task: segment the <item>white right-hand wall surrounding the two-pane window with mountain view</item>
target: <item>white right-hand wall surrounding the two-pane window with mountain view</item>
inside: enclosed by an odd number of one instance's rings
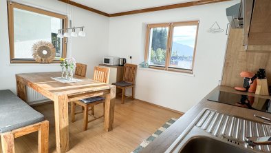
[[[199,20],[194,76],[161,70],[138,70],[135,98],[186,112],[218,85],[226,51],[226,8],[228,1],[204,6],[178,8],[110,18],[109,54],[132,56],[132,63],[144,61],[147,23]],[[225,31],[206,32],[217,21]],[[128,60],[129,61],[129,60]]]

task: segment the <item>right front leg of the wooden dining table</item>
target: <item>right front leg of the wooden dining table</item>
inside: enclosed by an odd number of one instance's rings
[[[113,130],[115,110],[116,87],[111,88],[109,94],[105,94],[105,131]]]

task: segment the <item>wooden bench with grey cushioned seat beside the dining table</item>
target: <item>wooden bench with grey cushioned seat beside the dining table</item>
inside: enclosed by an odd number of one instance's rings
[[[10,90],[0,90],[2,152],[15,152],[14,139],[36,131],[39,131],[39,152],[47,153],[49,122]]]

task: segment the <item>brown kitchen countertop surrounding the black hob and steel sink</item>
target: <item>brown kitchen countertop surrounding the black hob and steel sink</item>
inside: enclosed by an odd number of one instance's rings
[[[257,110],[249,110],[246,108],[240,108],[233,105],[227,105],[224,103],[214,103],[212,101],[208,101],[208,97],[213,94],[213,92],[224,91],[224,92],[232,92],[236,94],[246,94],[248,96],[261,97],[264,99],[271,99],[271,96],[261,96],[250,92],[239,92],[234,90],[232,87],[219,85],[212,92],[210,92],[207,96],[199,101],[197,105],[194,105],[193,108],[188,110],[180,119],[178,119],[173,125],[171,125],[165,132],[163,132],[157,139],[155,139],[152,143],[150,143],[146,148],[142,150],[141,153],[149,153],[149,152],[165,152],[171,144],[177,139],[182,132],[187,128],[187,126],[195,119],[195,117],[204,109],[210,108],[213,110],[217,110],[219,112],[229,114],[232,116],[239,116],[241,118],[249,119],[251,121],[263,122],[263,119],[259,119],[254,117],[254,114],[258,114],[260,116],[265,116],[271,119],[271,114],[266,112],[259,112]]]

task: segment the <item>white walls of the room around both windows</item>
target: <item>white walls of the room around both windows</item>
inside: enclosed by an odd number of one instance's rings
[[[17,0],[23,1],[23,0]],[[65,14],[65,4],[55,0],[24,0],[24,3]],[[147,23],[199,20],[194,76],[160,70],[138,70],[135,98],[186,112],[199,102],[221,79],[227,37],[225,32],[206,32],[217,21],[226,30],[225,9],[237,1],[178,8],[123,17],[107,18],[75,8],[76,25],[85,26],[86,38],[69,39],[68,57],[87,63],[87,76],[105,55],[132,56],[132,63],[144,61]],[[0,90],[15,92],[15,74],[60,71],[57,64],[10,64],[6,1],[0,1]],[[129,59],[127,60],[129,62]],[[129,92],[129,91],[128,91]],[[129,93],[128,93],[129,94]]]

